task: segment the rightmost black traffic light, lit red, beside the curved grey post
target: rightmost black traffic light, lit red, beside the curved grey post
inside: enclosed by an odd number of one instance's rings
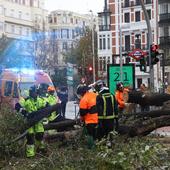
[[[157,64],[157,62],[159,62],[159,58],[158,58],[158,55],[159,55],[159,52],[158,52],[158,45],[151,45],[150,46],[150,53],[151,53],[151,64],[154,65],[154,64]]]

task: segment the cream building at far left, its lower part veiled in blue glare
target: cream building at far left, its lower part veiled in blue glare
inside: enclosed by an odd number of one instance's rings
[[[48,11],[44,9],[44,0],[1,0],[0,18],[1,55],[11,63],[19,54],[23,56],[21,61],[30,56],[35,67],[35,56],[40,54],[39,42],[42,42],[40,33],[42,36],[48,32]],[[12,54],[12,50],[15,54]],[[7,67],[6,63],[4,65]]]

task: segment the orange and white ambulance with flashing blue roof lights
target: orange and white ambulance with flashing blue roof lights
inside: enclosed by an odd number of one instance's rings
[[[20,98],[28,97],[31,86],[42,83],[53,86],[49,75],[42,70],[4,69],[0,74],[0,103],[14,107]]]

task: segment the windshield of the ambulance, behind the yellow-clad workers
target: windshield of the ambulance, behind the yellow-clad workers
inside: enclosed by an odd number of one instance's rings
[[[29,89],[33,86],[34,82],[20,82],[19,90],[22,97],[27,98],[29,96]]]

